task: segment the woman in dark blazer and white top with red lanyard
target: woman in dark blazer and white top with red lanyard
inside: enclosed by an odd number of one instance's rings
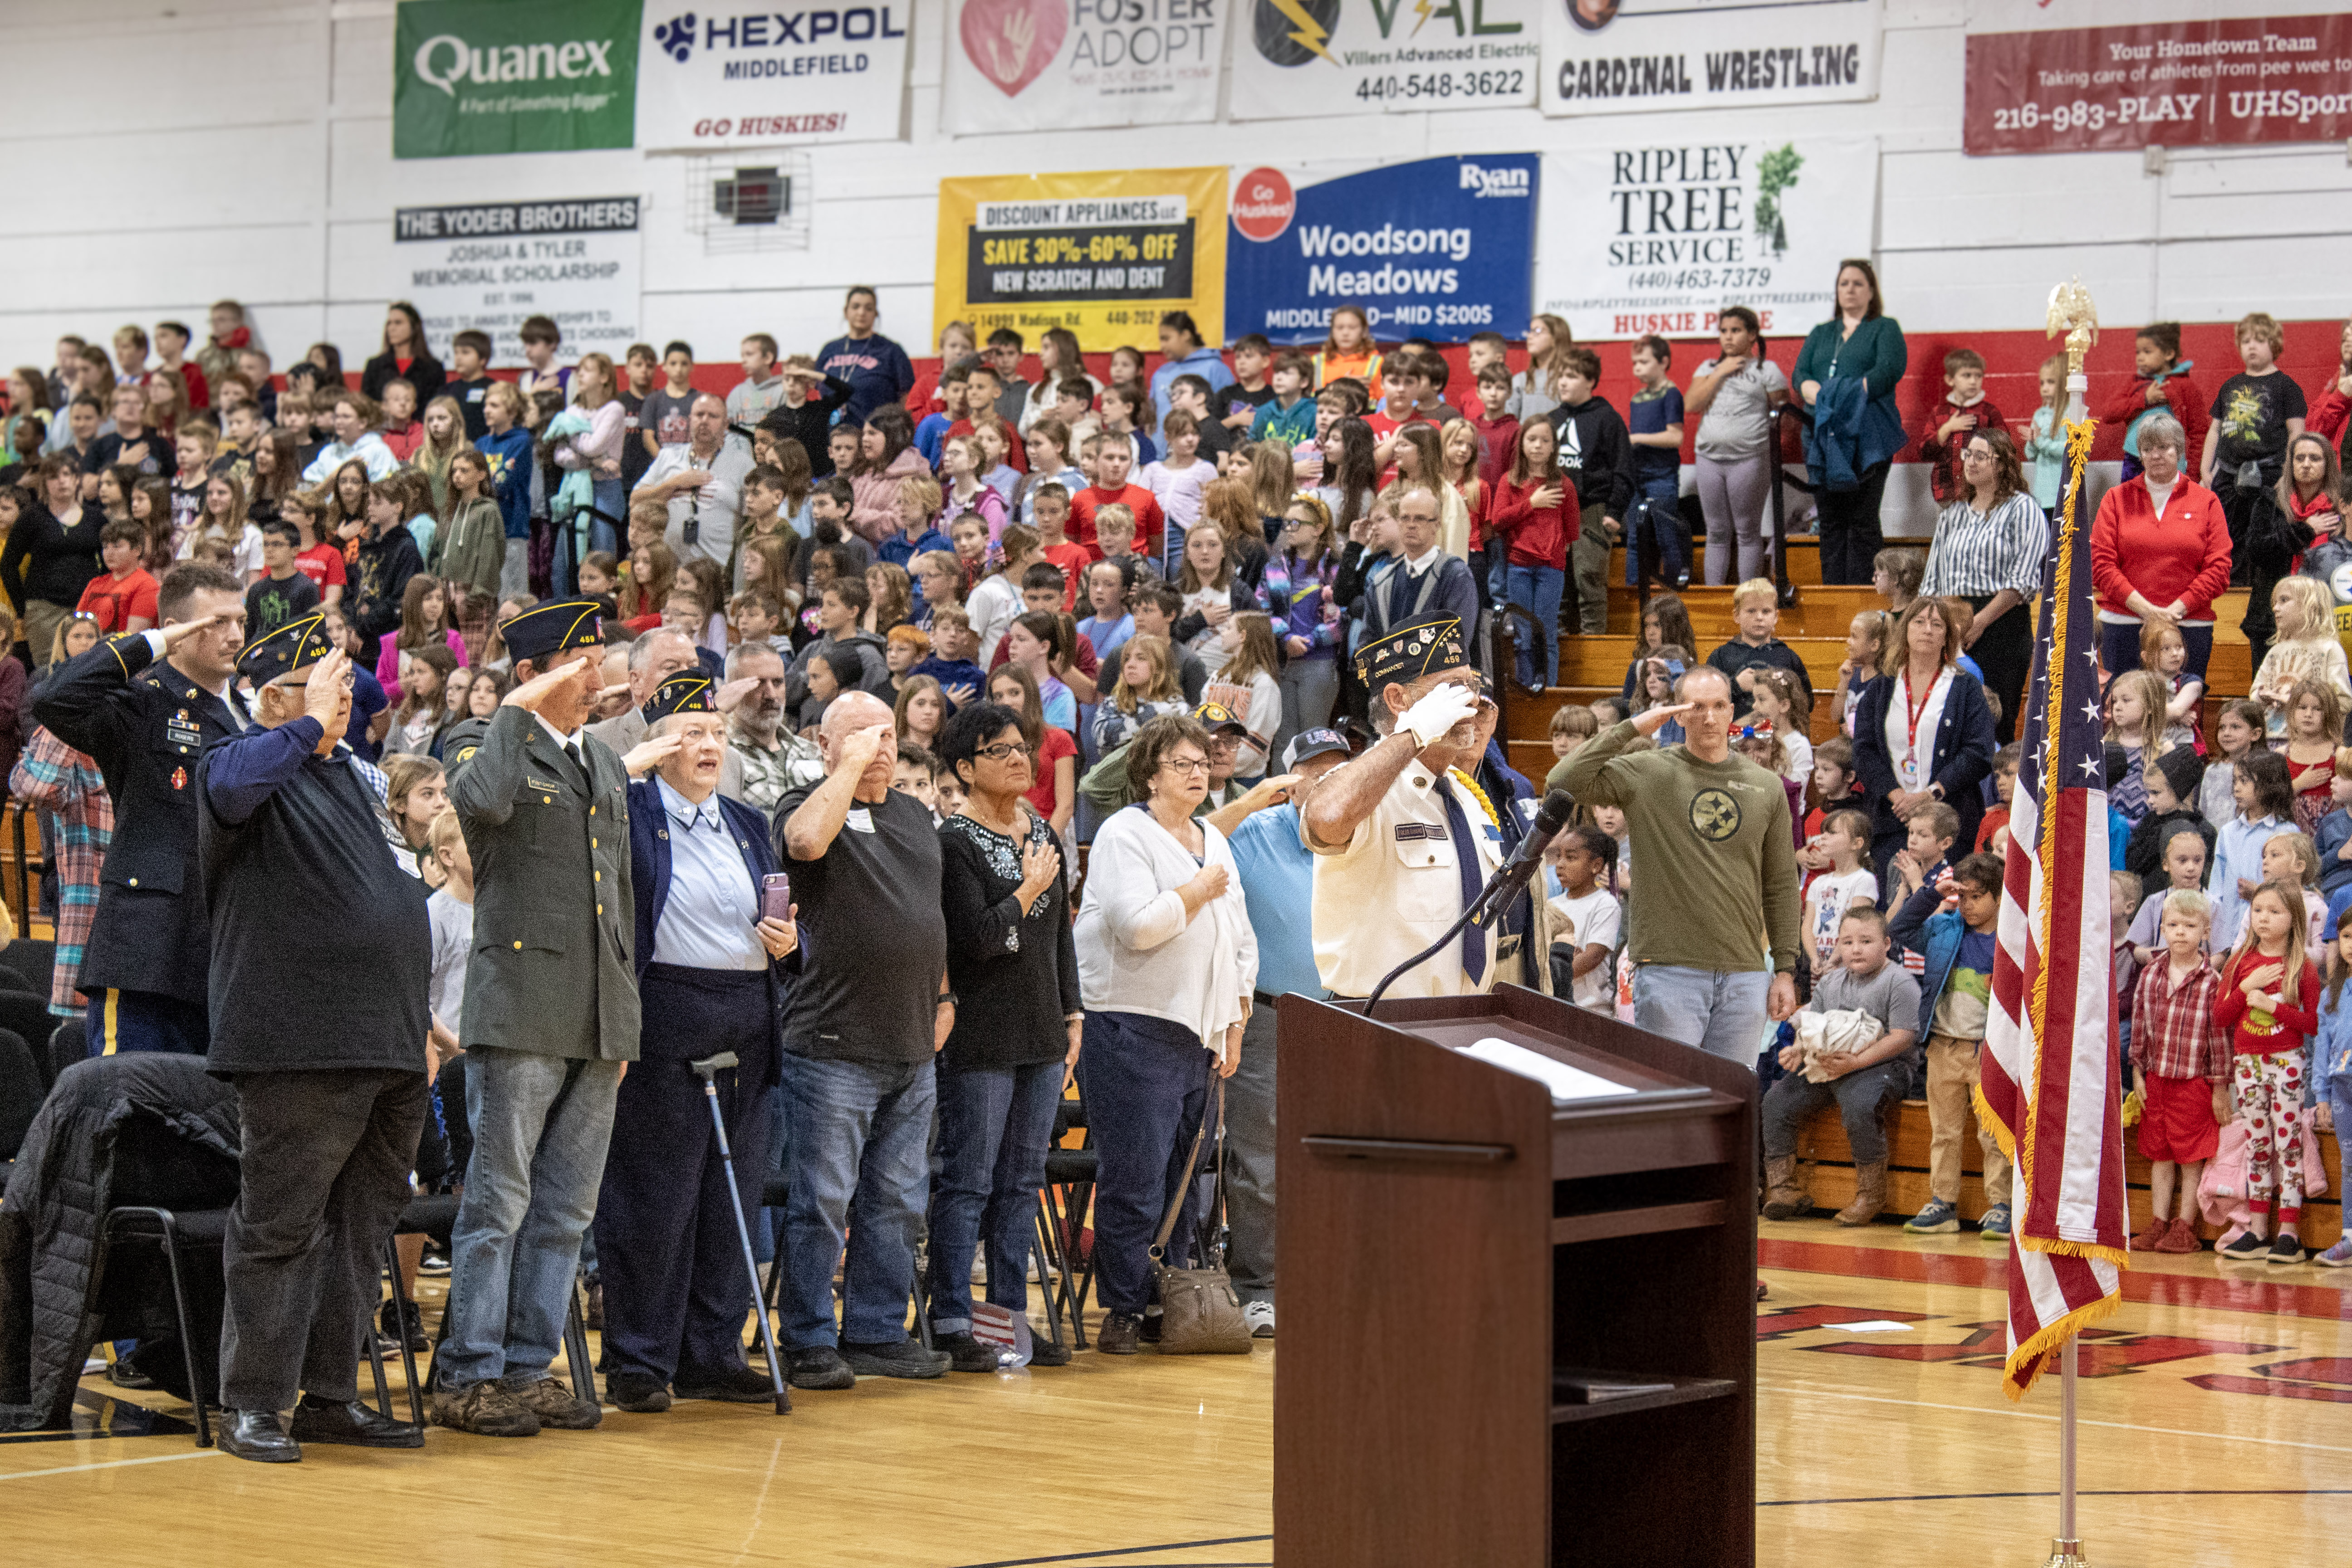
[[[1985,816],[1978,785],[1992,771],[1992,710],[1959,668],[1966,630],[1959,599],[1912,599],[1896,618],[1882,675],[1853,705],[1853,771],[1870,799],[1870,860],[1882,886],[1910,820],[1931,802],[1959,813],[1955,844],[1973,844]]]

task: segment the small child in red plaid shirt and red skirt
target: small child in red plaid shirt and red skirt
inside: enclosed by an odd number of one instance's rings
[[[2190,1218],[2197,1178],[2230,1119],[2230,1034],[2213,1016],[2220,980],[2204,954],[2211,929],[2204,893],[2166,893],[2164,950],[2131,994],[2131,1081],[2140,1091],[2140,1154],[2152,1166],[2152,1218],[2131,1239],[2143,1253],[2204,1251]]]

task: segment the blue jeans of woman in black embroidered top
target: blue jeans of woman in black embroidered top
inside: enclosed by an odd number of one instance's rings
[[[1058,1060],[938,1074],[931,1333],[971,1333],[971,1251],[981,1244],[990,1305],[1028,1312],[1028,1253],[1061,1079]]]

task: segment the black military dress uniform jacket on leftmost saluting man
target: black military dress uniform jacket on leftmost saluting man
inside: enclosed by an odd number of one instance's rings
[[[195,863],[195,764],[242,731],[228,703],[155,656],[146,632],[108,637],[59,668],[33,717],[89,752],[115,797],[82,990],[158,992],[205,1006],[212,922]]]

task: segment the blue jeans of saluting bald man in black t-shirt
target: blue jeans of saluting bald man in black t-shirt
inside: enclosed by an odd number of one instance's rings
[[[936,1100],[931,1060],[783,1058],[783,1119],[793,1145],[781,1262],[788,1349],[906,1338]],[[842,1258],[844,1232],[849,1267],[835,1328],[833,1265]]]

